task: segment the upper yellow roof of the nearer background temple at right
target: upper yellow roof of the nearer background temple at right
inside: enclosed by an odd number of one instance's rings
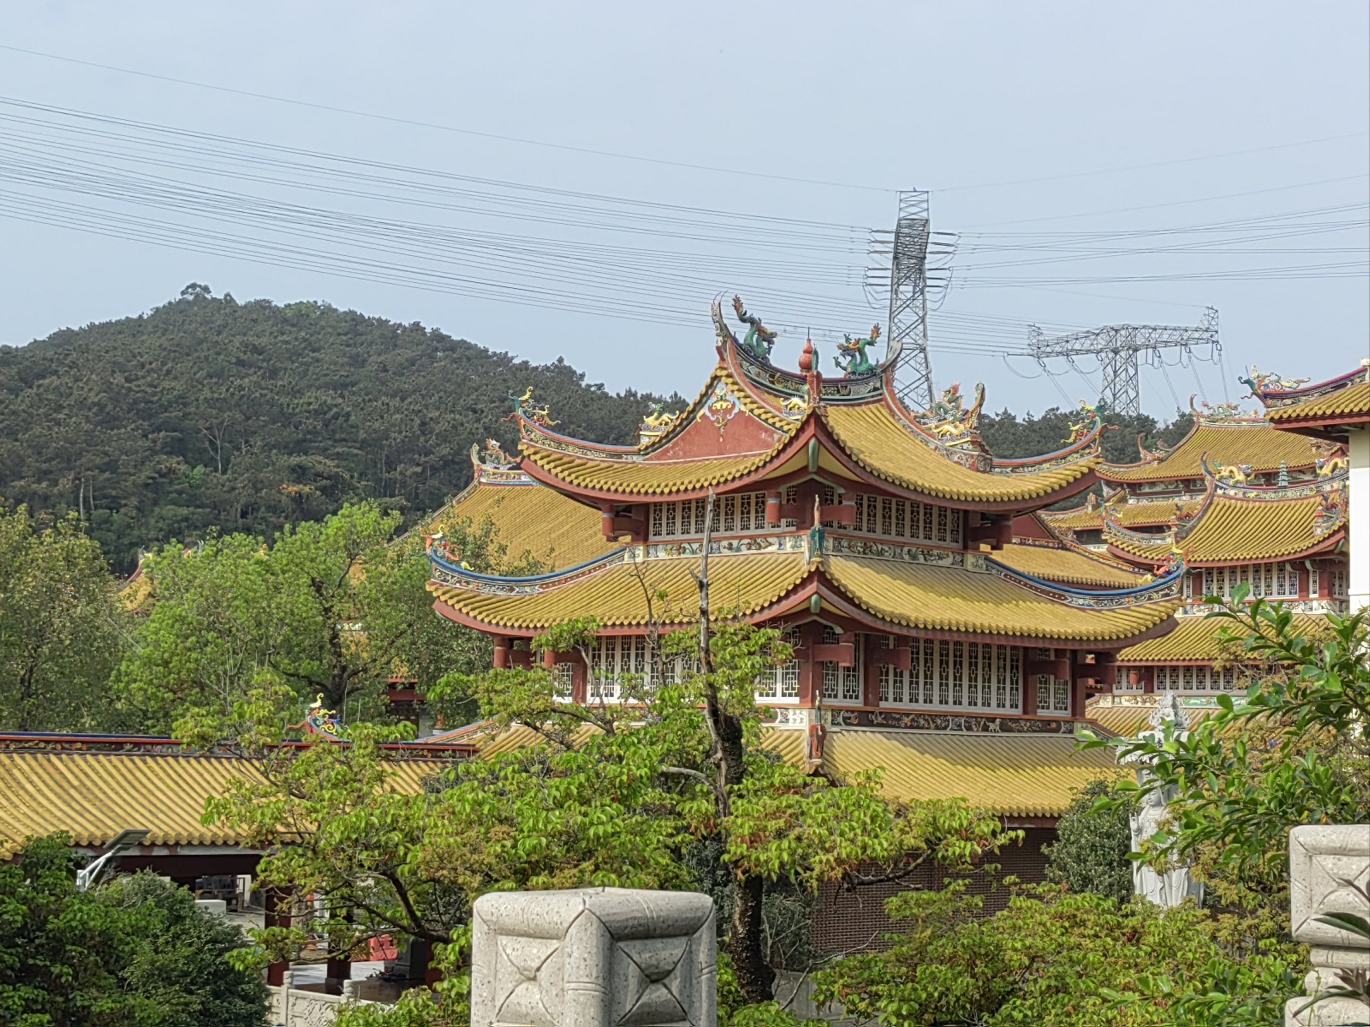
[[[1248,500],[1215,496],[1178,546],[1191,563],[1278,560],[1308,552],[1330,533],[1315,534],[1322,500]],[[1170,553],[1169,535],[1143,542],[1106,529],[1111,546],[1143,559],[1163,560]]]

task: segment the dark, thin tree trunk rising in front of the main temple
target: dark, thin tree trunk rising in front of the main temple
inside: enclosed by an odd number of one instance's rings
[[[699,667],[704,679],[704,720],[712,738],[711,759],[718,768],[718,819],[732,812],[730,789],[743,783],[747,764],[743,750],[743,722],[723,709],[718,683],[712,679],[714,657],[708,627],[708,548],[714,531],[714,494],[704,511],[704,545],[699,559]],[[767,965],[762,946],[762,898],[764,880],[733,871],[733,922],[727,931],[727,952],[733,957],[737,985],[748,1002],[775,997],[775,971]]]

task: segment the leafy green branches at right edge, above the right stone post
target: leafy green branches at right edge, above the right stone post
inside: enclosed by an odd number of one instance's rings
[[[1219,696],[1222,709],[1185,738],[1167,727],[1162,739],[1114,742],[1149,765],[1143,794],[1175,796],[1171,830],[1151,839],[1149,857],[1197,860],[1233,904],[1285,890],[1292,826],[1370,819],[1365,616],[1329,616],[1330,635],[1308,639],[1282,605],[1244,598],[1211,616],[1226,641],[1284,670],[1254,683],[1241,705]]]

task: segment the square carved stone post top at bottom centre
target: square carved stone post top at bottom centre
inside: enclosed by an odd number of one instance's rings
[[[708,896],[506,891],[471,912],[471,1027],[715,1027]]]

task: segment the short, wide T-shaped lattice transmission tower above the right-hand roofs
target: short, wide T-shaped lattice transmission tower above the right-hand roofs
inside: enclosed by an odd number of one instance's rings
[[[1222,352],[1218,341],[1218,309],[1208,307],[1203,322],[1195,327],[1175,325],[1106,325],[1091,331],[1047,338],[1036,325],[1028,326],[1029,356],[1043,371],[1051,374],[1047,362],[1063,357],[1075,367],[1077,356],[1099,357],[1103,372],[1101,398],[1112,414],[1141,414],[1141,382],[1138,366],[1162,366],[1162,349],[1184,349],[1193,360],[1195,346],[1207,346],[1208,355],[1197,357],[1215,360]],[[1075,368],[1080,370],[1080,368]]]

